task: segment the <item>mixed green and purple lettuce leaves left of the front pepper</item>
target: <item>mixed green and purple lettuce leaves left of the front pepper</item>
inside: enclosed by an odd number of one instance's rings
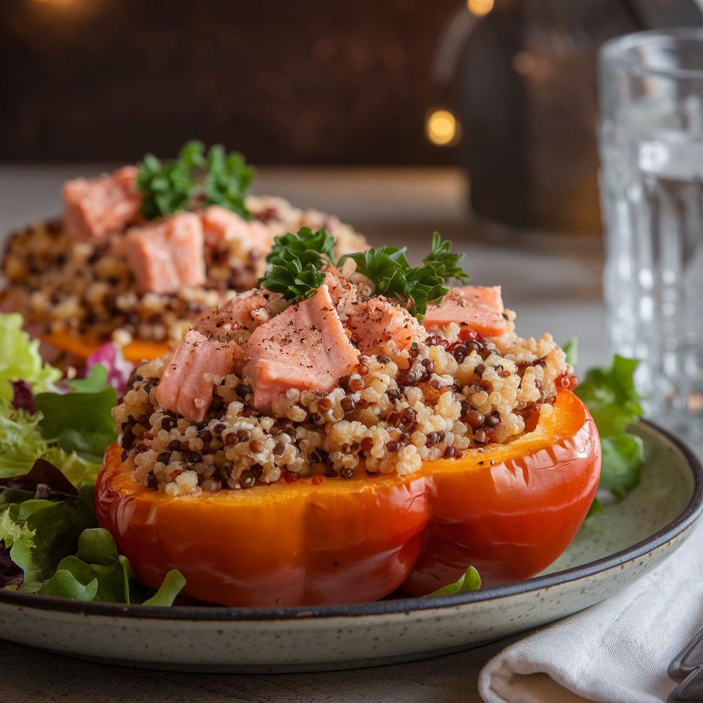
[[[108,369],[62,382],[18,314],[0,315],[0,340],[0,588],[171,605],[183,576],[169,572],[153,593],[96,520],[93,489],[117,439]]]

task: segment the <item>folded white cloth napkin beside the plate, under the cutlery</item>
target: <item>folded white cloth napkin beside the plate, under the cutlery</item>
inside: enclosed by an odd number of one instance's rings
[[[669,662],[703,627],[703,522],[671,557],[612,598],[503,650],[486,703],[660,703]]]

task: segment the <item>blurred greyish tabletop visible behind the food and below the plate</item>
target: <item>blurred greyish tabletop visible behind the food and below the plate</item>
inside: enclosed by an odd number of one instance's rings
[[[60,183],[101,165],[0,165],[0,232],[60,212]],[[298,207],[337,214],[370,244],[407,245],[419,262],[435,229],[466,252],[476,285],[502,285],[517,312],[517,332],[549,332],[559,343],[579,337],[577,371],[609,357],[598,236],[512,233],[470,221],[467,179],[458,169],[259,169],[255,192],[282,195]],[[0,633],[1,636],[1,633]],[[255,676],[121,669],[0,640],[3,697],[13,703],[70,700],[219,702],[479,701],[484,664],[517,639],[424,662],[329,673]]]

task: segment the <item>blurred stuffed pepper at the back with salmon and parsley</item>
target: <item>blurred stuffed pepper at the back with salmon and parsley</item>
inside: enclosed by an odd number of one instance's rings
[[[216,145],[146,155],[63,185],[63,215],[11,236],[0,310],[19,312],[46,361],[82,366],[112,340],[138,363],[169,351],[184,323],[256,285],[273,237],[325,226],[335,253],[363,249],[352,228],[282,198],[247,195],[255,172]]]

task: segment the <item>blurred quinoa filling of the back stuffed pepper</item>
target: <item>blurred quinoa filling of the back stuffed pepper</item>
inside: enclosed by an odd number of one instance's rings
[[[366,245],[363,236],[336,217],[303,212],[283,198],[250,195],[245,204],[271,237],[302,226],[325,226],[337,240],[337,255]],[[206,243],[205,285],[168,295],[138,295],[120,234],[101,242],[79,241],[60,219],[39,222],[8,240],[1,267],[7,285],[0,307],[20,312],[34,335],[112,337],[118,345],[135,339],[177,342],[184,323],[256,285],[266,271],[266,254],[252,243]]]

